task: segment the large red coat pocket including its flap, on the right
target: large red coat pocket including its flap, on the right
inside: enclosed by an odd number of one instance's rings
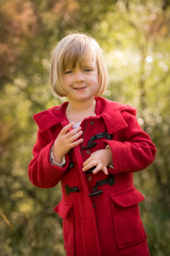
[[[112,217],[119,248],[138,244],[147,238],[138,206],[144,199],[135,187],[111,195]]]

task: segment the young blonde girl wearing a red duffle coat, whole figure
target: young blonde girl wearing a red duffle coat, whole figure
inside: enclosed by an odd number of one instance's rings
[[[29,178],[39,188],[61,180],[55,207],[69,256],[148,256],[133,172],[156,148],[135,108],[99,97],[108,84],[103,52],[83,34],[63,38],[50,70],[53,90],[68,102],[33,116],[39,126]]]

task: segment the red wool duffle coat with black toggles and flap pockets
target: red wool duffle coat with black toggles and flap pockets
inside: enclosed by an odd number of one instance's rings
[[[66,164],[61,168],[50,164],[49,154],[57,134],[68,124],[67,104],[33,116],[39,130],[29,164],[33,185],[52,188],[61,180],[62,200],[54,210],[63,218],[67,255],[148,256],[147,236],[138,206],[144,197],[133,186],[133,172],[145,169],[154,161],[156,148],[138,124],[135,108],[97,97],[96,116],[84,118],[81,123],[83,145],[66,154]],[[112,135],[111,140],[100,138],[94,147],[83,149],[93,135],[106,131]],[[108,172],[115,183],[99,186],[97,190],[103,194],[89,196],[94,193],[96,182],[108,175],[103,171],[84,173],[82,165],[91,153],[106,145],[112,149],[114,169],[108,167]],[[68,193],[71,187],[77,187],[78,191]]]

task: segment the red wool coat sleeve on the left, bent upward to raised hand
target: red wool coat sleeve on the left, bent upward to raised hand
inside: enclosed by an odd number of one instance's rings
[[[37,142],[33,147],[33,159],[28,166],[30,181],[39,188],[52,188],[63,177],[69,166],[69,154],[65,155],[66,164],[63,167],[50,164],[49,155],[54,141],[50,141],[47,132],[38,130]]]

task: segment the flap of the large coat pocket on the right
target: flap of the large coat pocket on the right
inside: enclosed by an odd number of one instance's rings
[[[144,196],[135,187],[111,195],[111,200],[121,207],[138,204],[144,199]]]

